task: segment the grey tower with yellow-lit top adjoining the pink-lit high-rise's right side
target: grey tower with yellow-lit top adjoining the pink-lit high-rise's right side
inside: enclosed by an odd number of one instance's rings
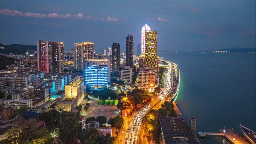
[[[64,45],[63,42],[53,43],[53,71],[57,73],[63,72],[64,62]]]

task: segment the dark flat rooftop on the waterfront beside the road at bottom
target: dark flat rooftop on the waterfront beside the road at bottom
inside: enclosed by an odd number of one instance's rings
[[[183,118],[159,117],[165,144],[200,144]]]

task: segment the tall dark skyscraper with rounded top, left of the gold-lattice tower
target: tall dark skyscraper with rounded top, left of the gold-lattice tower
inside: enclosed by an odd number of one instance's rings
[[[133,66],[133,37],[128,35],[126,37],[125,45],[125,55],[126,55],[126,66]]]

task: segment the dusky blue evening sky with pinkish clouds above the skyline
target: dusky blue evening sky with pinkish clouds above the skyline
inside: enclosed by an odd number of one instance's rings
[[[94,42],[101,50],[141,27],[158,31],[158,50],[255,48],[255,0],[1,0],[1,43]]]

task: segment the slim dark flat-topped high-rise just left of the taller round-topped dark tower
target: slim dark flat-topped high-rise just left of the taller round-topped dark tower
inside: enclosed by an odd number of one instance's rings
[[[118,72],[120,67],[120,45],[113,43],[112,45],[112,72]]]

